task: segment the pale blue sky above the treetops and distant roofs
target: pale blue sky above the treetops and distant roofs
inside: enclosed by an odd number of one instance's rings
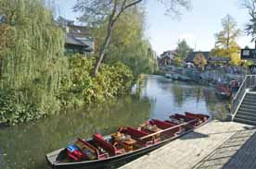
[[[165,16],[165,8],[156,0],[147,3],[146,35],[157,54],[173,50],[179,39],[186,39],[192,48],[198,51],[209,51],[214,46],[214,34],[222,30],[221,19],[230,14],[237,20],[239,29],[249,20],[247,11],[241,9],[242,0],[192,0],[192,9],[184,11],[180,19]],[[75,19],[72,12],[76,0],[58,0],[60,14],[64,18]],[[245,33],[238,39],[241,47],[249,45],[250,37]]]

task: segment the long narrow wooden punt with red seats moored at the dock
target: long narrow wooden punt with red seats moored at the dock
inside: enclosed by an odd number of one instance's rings
[[[77,139],[67,148],[45,155],[53,169],[110,168],[128,163],[177,139],[210,120],[208,115],[186,113],[170,120],[148,120],[139,127],[120,127],[119,131],[92,139]],[[76,152],[76,153],[74,153]]]

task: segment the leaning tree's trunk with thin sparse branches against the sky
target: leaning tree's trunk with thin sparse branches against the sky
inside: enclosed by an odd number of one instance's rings
[[[87,24],[102,24],[108,19],[108,30],[106,38],[99,51],[99,59],[96,63],[95,75],[109,47],[112,31],[117,20],[128,8],[136,6],[146,0],[77,0],[74,11],[80,12],[83,15],[80,21]],[[163,5],[167,6],[168,13],[178,14],[181,7],[188,9],[190,0],[158,0]]]

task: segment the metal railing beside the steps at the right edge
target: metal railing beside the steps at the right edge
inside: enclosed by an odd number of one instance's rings
[[[232,101],[232,106],[231,106],[232,120],[237,115],[237,111],[241,103],[243,102],[247,92],[254,89],[255,87],[256,87],[256,75],[247,75],[242,85],[240,86],[239,90],[237,91],[235,98]]]

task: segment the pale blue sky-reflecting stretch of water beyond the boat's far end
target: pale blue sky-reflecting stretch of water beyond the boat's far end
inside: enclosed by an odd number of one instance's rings
[[[141,97],[149,99],[150,115],[156,118],[190,111],[224,119],[229,103],[218,100],[212,88],[158,76],[146,77]]]

